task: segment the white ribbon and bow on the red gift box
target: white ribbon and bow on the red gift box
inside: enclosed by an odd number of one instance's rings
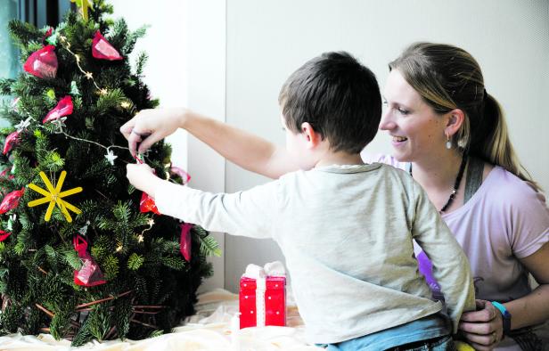
[[[284,269],[284,265],[280,261],[267,263],[263,267],[248,265],[243,276],[256,280],[256,321],[258,327],[264,327],[266,277],[285,277],[286,270]]]

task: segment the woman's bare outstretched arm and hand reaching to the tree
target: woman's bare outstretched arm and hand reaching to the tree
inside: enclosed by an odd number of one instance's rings
[[[144,152],[182,127],[234,164],[260,175],[278,178],[299,169],[282,147],[257,135],[231,127],[185,109],[142,110],[120,132],[127,138],[132,155]],[[139,150],[136,145],[139,144]]]

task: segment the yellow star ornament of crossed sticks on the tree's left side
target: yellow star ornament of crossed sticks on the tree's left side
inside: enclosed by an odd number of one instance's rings
[[[63,214],[63,216],[65,216],[65,219],[67,219],[67,222],[69,223],[72,222],[72,217],[70,217],[68,209],[70,209],[72,212],[76,213],[77,215],[82,213],[82,211],[80,211],[75,206],[71,205],[69,202],[62,200],[62,198],[65,198],[70,195],[74,195],[77,192],[82,192],[81,186],[61,192],[61,186],[63,186],[63,182],[65,181],[66,175],[67,175],[67,172],[62,171],[61,175],[59,176],[59,181],[57,182],[55,187],[53,187],[52,182],[50,182],[50,180],[47,178],[45,173],[40,172],[40,177],[44,181],[47,191],[45,191],[44,189],[40,188],[35,184],[32,184],[32,183],[29,184],[30,189],[44,195],[44,198],[42,199],[30,201],[27,204],[29,208],[33,208],[35,206],[45,204],[46,202],[50,203],[47,207],[47,210],[45,211],[44,220],[46,222],[49,222],[50,218],[52,217],[53,208],[55,207],[56,204],[61,209],[61,213]]]

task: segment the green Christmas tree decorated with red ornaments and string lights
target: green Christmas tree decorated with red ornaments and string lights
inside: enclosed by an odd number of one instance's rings
[[[219,254],[208,232],[161,216],[127,182],[135,159],[119,127],[158,104],[142,81],[146,54],[128,61],[144,28],[105,18],[103,0],[78,4],[55,29],[10,22],[24,70],[0,80],[13,97],[2,110],[13,127],[0,131],[0,333],[74,346],[170,331],[193,314],[206,257]],[[170,152],[157,143],[137,161],[183,184]]]

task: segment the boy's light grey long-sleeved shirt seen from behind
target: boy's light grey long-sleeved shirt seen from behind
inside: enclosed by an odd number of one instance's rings
[[[418,272],[413,239],[436,267],[454,331],[474,310],[467,258],[422,188],[379,163],[292,172],[245,192],[163,183],[161,213],[281,247],[311,343],[336,343],[441,309]]]

